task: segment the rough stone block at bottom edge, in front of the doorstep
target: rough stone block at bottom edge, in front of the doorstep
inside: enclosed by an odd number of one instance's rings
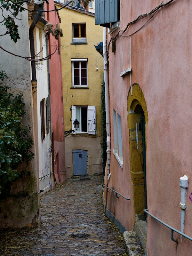
[[[128,256],[144,256],[144,251],[135,231],[123,233],[125,250]]]

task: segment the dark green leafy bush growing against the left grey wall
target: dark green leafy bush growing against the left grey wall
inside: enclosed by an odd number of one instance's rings
[[[0,81],[7,78],[0,71]],[[30,161],[34,154],[30,151],[33,141],[30,126],[23,128],[23,95],[14,96],[10,87],[0,82],[0,195],[10,190],[11,183],[21,174],[17,167],[23,161]],[[6,191],[6,192],[5,192]]]

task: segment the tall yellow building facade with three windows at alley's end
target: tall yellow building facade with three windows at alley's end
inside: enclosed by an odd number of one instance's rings
[[[56,3],[61,8],[62,3]],[[103,58],[94,45],[103,41],[102,27],[95,26],[95,14],[67,6],[59,11],[65,131],[79,129],[65,137],[67,177],[102,173],[101,84]]]

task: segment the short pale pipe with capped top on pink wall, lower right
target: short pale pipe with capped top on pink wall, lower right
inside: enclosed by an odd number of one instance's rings
[[[181,232],[184,231],[184,225],[185,225],[185,209],[186,209],[186,196],[187,196],[187,187],[188,187],[188,177],[184,175],[179,179],[179,185],[181,187]],[[183,236],[181,235],[181,242],[182,242]]]

